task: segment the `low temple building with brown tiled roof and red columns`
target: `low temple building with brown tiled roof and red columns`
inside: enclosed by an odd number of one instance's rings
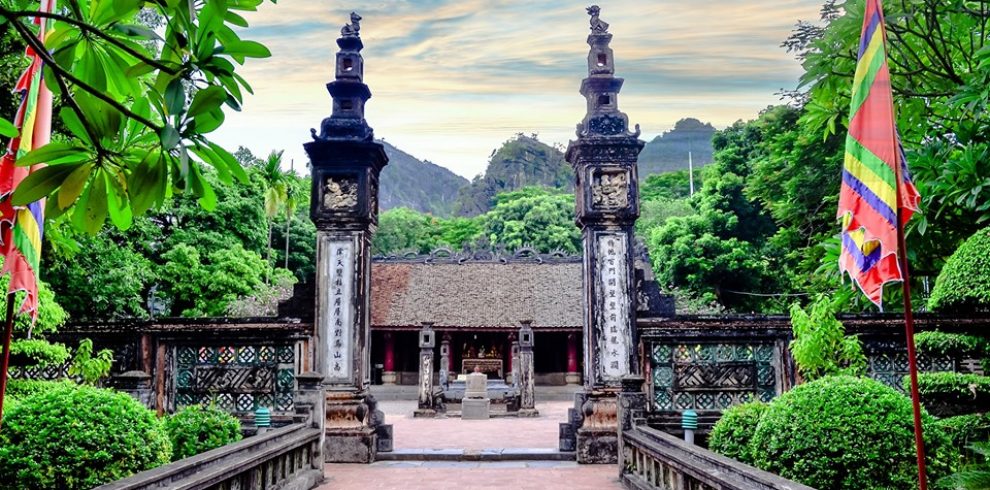
[[[436,358],[450,346],[452,376],[475,368],[491,378],[512,371],[512,344],[520,322],[534,331],[536,383],[581,383],[581,255],[453,253],[375,257],[371,266],[371,364],[374,381],[414,385],[418,379],[417,334],[423,323],[436,332]],[[659,294],[646,266],[637,261],[640,296],[655,314],[672,305]],[[641,314],[650,314],[649,310]]]

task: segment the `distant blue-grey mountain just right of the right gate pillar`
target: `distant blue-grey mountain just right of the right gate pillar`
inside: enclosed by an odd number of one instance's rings
[[[674,128],[646,144],[639,154],[639,177],[686,170],[688,152],[694,168],[712,163],[712,135],[715,127],[692,117],[677,121]]]

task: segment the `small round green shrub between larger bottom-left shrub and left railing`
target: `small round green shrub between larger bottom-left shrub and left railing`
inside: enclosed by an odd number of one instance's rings
[[[214,406],[191,405],[165,420],[172,461],[195,456],[241,439],[237,417]]]

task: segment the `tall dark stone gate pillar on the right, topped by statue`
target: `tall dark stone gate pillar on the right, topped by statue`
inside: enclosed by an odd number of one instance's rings
[[[599,11],[588,9],[591,50],[581,83],[588,112],[565,154],[576,176],[584,245],[584,389],[576,395],[582,416],[574,431],[579,463],[617,461],[617,396],[622,379],[638,369],[633,225],[639,216],[636,159],[645,143],[619,111],[623,80],[615,77],[612,35]]]

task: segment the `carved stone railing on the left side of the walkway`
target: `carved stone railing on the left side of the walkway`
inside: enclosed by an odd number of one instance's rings
[[[280,427],[97,487],[99,490],[310,490],[323,480],[322,431]]]

